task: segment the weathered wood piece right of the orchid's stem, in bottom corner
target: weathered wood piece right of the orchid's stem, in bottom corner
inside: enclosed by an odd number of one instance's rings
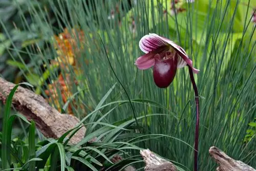
[[[210,147],[209,154],[218,164],[220,164],[220,166],[216,169],[218,171],[256,171],[254,168],[243,163],[242,161],[230,158],[215,146]]]

